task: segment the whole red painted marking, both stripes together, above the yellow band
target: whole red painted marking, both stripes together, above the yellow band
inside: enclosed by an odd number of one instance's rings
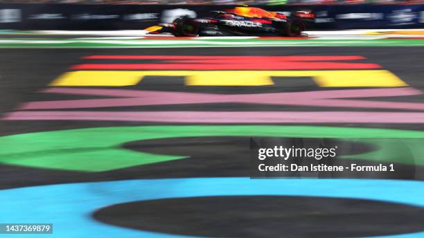
[[[197,56],[197,55],[91,55],[86,60],[162,60],[154,64],[79,64],[72,69],[167,69],[167,70],[279,70],[381,68],[378,64],[319,62],[362,60],[359,55],[301,56]]]

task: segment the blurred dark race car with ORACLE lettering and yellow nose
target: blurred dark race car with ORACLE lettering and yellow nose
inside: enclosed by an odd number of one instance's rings
[[[315,20],[309,10],[269,12],[261,8],[236,7],[211,11],[209,17],[182,16],[173,23],[152,26],[150,33],[171,33],[177,37],[196,36],[286,36],[299,37]]]

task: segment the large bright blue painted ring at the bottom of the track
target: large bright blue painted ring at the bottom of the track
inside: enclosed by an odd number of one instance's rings
[[[116,203],[235,195],[370,199],[424,207],[424,183],[421,181],[166,178],[0,190],[0,223],[53,223],[53,235],[48,237],[184,237],[109,226],[92,219],[91,213]],[[13,235],[13,237],[32,237],[32,235]],[[387,237],[424,237],[424,232]]]

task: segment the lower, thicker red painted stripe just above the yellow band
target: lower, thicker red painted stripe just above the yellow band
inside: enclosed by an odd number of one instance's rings
[[[166,69],[166,70],[281,70],[381,68],[378,64],[332,62],[249,62],[246,64],[78,64],[71,69]]]

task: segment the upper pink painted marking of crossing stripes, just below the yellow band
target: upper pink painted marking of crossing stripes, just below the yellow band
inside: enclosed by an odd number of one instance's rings
[[[83,100],[54,100],[27,102],[21,110],[34,109],[77,109],[95,107],[129,107],[166,104],[201,104],[201,103],[243,103],[273,104],[309,107],[344,107],[344,108],[380,108],[400,110],[424,110],[422,102],[387,102],[376,100],[346,100],[339,98],[387,97],[401,95],[419,95],[421,91],[410,88],[398,89],[353,89],[330,90],[295,93],[254,93],[254,94],[211,94],[185,93],[168,91],[134,91],[123,89],[46,89],[46,93],[69,93],[82,95],[125,96],[124,98],[103,98]],[[173,100],[169,100],[173,98]]]

